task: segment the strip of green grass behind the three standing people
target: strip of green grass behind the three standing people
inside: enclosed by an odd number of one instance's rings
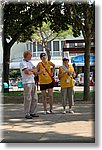
[[[90,92],[91,95],[91,103],[95,103],[95,92]],[[54,97],[54,103],[61,103],[62,97],[60,91],[54,91],[53,92],[53,97]],[[48,94],[47,94],[47,100],[48,100]],[[3,103],[22,103],[23,104],[24,98],[23,98],[23,91],[14,91],[14,92],[9,92],[9,93],[4,93],[3,96]],[[85,103],[86,101],[83,100],[83,92],[78,91],[75,92],[74,94],[74,101],[77,103]],[[38,92],[38,102],[42,102],[42,94],[41,92]]]

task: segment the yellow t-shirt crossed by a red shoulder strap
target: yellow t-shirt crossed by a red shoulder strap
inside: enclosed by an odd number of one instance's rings
[[[44,66],[42,65],[42,63],[44,64],[45,68],[48,70],[48,72],[51,74],[51,66],[52,66],[52,62],[50,61],[46,61],[44,62],[40,62],[39,63],[39,71],[41,71],[42,69],[44,69]],[[51,77],[49,76],[49,74],[47,73],[47,71],[45,70],[44,74],[39,74],[39,83],[40,84],[49,84],[52,82]]]

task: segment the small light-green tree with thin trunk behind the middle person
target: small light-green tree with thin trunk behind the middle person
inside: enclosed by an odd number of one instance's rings
[[[41,45],[45,48],[46,53],[48,55],[48,60],[51,59],[50,49],[48,47],[48,42],[53,41],[54,39],[67,38],[68,34],[72,34],[71,27],[66,31],[55,32],[50,29],[50,22],[43,22],[42,27],[34,27],[34,34],[31,36],[32,41],[37,42],[37,44]]]

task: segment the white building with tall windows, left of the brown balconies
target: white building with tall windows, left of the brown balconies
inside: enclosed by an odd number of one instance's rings
[[[74,37],[69,37],[69,39],[75,39]],[[78,39],[82,39],[79,37]],[[67,39],[55,39],[48,42],[48,48],[50,49],[51,61],[56,64],[56,67],[62,65],[62,56],[63,56],[63,47],[65,46],[65,41]],[[76,46],[76,43],[70,43],[66,45],[67,47]],[[23,52],[30,50],[32,52],[32,62],[36,66],[40,61],[40,53],[45,52],[45,48],[39,45],[37,42],[26,42],[26,43],[15,43],[11,48],[11,57],[10,57],[10,69],[18,69],[19,63],[23,58]],[[77,53],[70,54],[69,52],[64,53],[64,56],[70,58],[77,56]]]

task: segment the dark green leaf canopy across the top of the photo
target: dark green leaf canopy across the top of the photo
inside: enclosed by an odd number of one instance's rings
[[[33,27],[42,27],[50,22],[53,32],[66,31],[69,25],[73,28],[73,35],[79,36],[85,29],[86,9],[91,32],[95,26],[95,7],[88,3],[68,2],[32,2],[32,3],[7,3],[3,8],[4,36],[6,39],[29,40],[34,33]],[[47,28],[45,26],[45,28]]]

